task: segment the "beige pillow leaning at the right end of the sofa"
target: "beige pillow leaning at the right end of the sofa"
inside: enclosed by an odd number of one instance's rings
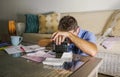
[[[120,10],[116,10],[108,19],[103,34],[107,33],[109,28],[112,30],[107,34],[109,36],[120,36]]]

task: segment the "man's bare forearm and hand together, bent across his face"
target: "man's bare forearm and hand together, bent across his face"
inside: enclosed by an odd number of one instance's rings
[[[96,55],[97,46],[94,43],[81,39],[71,32],[56,32],[52,36],[53,41],[55,41],[56,44],[61,44],[66,37],[69,38],[71,42],[73,42],[84,53],[90,56]]]

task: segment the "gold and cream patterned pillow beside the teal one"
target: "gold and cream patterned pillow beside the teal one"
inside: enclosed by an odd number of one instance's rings
[[[39,33],[51,34],[57,31],[60,13],[48,13],[39,15]]]

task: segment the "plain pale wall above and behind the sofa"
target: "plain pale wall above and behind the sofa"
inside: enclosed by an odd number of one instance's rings
[[[119,9],[119,4],[119,0],[0,0],[0,35],[8,33],[8,20],[17,19],[19,14],[38,14],[48,11],[61,13],[77,12],[76,14],[78,14],[79,12]],[[77,17],[77,19],[79,18]],[[89,20],[88,18],[84,18],[84,16],[83,19],[85,21],[86,19],[87,21]],[[83,23],[85,24],[85,22]]]

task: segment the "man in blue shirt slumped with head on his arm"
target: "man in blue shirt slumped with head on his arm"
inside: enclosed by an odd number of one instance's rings
[[[72,16],[61,18],[58,31],[52,35],[52,40],[57,45],[64,42],[65,38],[70,41],[69,51],[80,55],[96,55],[95,35],[89,31],[82,30]]]

